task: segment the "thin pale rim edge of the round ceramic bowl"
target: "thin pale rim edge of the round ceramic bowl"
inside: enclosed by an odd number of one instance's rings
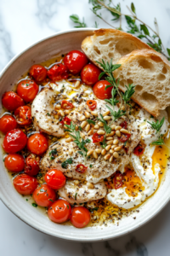
[[[20,51],[19,54],[17,55],[14,55],[14,57],[8,61],[8,64],[3,67],[3,70],[1,71],[0,73],[0,79],[2,79],[3,77],[3,74],[7,71],[8,67],[10,67],[14,61],[16,61],[21,55],[25,54],[27,50],[31,49],[32,47],[36,46],[37,44],[40,44],[50,38],[55,38],[56,36],[59,36],[59,35],[62,35],[62,34],[66,34],[66,33],[71,33],[71,32],[83,32],[83,31],[86,31],[86,32],[92,32],[96,30],[96,28],[94,27],[89,27],[89,28],[75,28],[75,29],[69,29],[69,30],[65,30],[65,31],[60,31],[60,32],[56,32],[48,37],[45,37],[45,38],[42,38],[40,40],[37,40],[36,43],[34,44],[31,44],[30,46],[26,47],[25,49],[23,49],[22,51]],[[21,214],[19,212],[17,212],[17,210],[15,210],[12,206],[8,205],[8,202],[5,200],[5,197],[3,196],[3,194],[1,193],[0,191],[0,200],[3,201],[3,204],[8,207],[8,209],[14,213],[14,215],[18,218],[20,218],[20,220],[22,220],[24,223],[28,224],[31,228],[34,228],[35,230],[37,231],[41,231],[43,234],[46,234],[48,236],[53,236],[53,237],[56,237],[56,238],[59,238],[59,239],[65,239],[65,240],[68,240],[68,241],[81,241],[81,242],[87,242],[87,241],[105,241],[105,240],[111,240],[111,239],[115,239],[117,237],[120,237],[120,236],[124,236],[124,235],[127,235],[128,233],[134,231],[134,230],[138,230],[141,226],[143,226],[144,224],[147,224],[152,218],[156,217],[156,215],[161,212],[161,210],[163,210],[164,207],[166,207],[168,201],[170,201],[170,198],[167,197],[167,199],[165,201],[162,201],[161,204],[159,205],[159,207],[156,209],[155,212],[153,212],[152,214],[150,214],[150,216],[148,218],[145,218],[143,221],[141,221],[140,224],[135,224],[133,225],[132,228],[128,229],[128,230],[124,230],[123,232],[117,232],[116,235],[108,235],[108,236],[105,236],[105,237],[102,237],[102,238],[91,238],[91,239],[88,239],[88,237],[84,237],[84,238],[74,238],[72,237],[71,235],[68,234],[68,236],[65,236],[65,235],[56,235],[56,234],[53,234],[53,232],[50,232],[48,230],[44,230],[42,229],[41,227],[38,227],[37,224],[32,224],[31,221],[29,221],[28,219],[26,219],[24,216],[21,216]]]

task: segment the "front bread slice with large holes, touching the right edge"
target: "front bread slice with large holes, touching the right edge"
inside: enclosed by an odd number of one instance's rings
[[[117,64],[122,64],[114,72],[115,78],[120,79],[120,90],[127,90],[127,84],[136,85],[134,102],[155,117],[170,105],[170,62],[167,58],[152,49],[138,49],[123,56]]]

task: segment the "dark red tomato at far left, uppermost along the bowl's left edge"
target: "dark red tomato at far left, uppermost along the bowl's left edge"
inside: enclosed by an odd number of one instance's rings
[[[14,91],[7,91],[2,96],[3,107],[7,108],[9,111],[14,111],[16,108],[25,105],[23,99],[18,96]]]

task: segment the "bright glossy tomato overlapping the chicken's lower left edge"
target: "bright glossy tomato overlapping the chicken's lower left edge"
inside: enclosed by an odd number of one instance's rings
[[[50,188],[57,190],[65,186],[66,178],[63,172],[50,169],[45,175],[45,182]]]

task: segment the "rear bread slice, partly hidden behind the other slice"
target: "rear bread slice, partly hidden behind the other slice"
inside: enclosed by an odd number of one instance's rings
[[[142,42],[132,34],[116,29],[99,29],[94,31],[94,36],[82,41],[82,50],[90,61],[99,67],[96,61],[111,61],[115,64],[123,55],[127,55],[134,49],[151,49],[148,44]]]

